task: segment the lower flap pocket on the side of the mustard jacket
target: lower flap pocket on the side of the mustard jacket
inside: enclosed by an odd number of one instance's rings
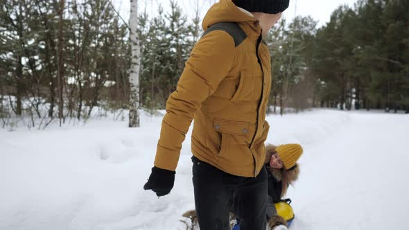
[[[219,157],[234,154],[240,148],[248,148],[254,130],[250,122],[229,121],[214,118],[213,127],[207,137],[207,148]]]

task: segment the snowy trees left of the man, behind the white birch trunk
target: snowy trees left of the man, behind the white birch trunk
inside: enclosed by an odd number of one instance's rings
[[[163,108],[175,89],[199,20],[175,1],[139,13],[140,105]],[[130,27],[110,0],[0,1],[0,117],[87,118],[96,107],[128,109]]]

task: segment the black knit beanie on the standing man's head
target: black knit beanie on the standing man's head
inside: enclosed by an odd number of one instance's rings
[[[286,10],[290,0],[233,0],[233,3],[248,12],[265,12],[275,15]]]

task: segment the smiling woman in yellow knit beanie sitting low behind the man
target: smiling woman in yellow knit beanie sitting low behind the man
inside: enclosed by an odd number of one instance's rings
[[[266,146],[266,168],[268,170],[268,227],[273,230],[288,229],[288,222],[278,215],[275,204],[282,202],[287,188],[299,176],[299,157],[303,152],[299,144]]]

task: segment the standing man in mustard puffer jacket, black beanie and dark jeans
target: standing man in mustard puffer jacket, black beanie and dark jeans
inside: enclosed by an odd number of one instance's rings
[[[288,0],[220,0],[203,20],[177,89],[166,102],[155,166],[145,184],[170,193],[185,135],[191,136],[195,209],[200,229],[228,229],[232,194],[241,229],[266,229],[271,64],[263,36]]]

